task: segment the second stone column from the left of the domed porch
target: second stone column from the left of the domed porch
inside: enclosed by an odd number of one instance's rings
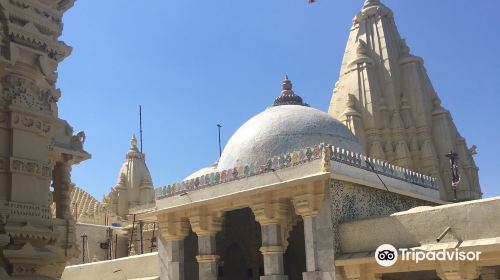
[[[191,228],[198,235],[198,271],[200,280],[217,280],[218,261],[215,236],[221,229],[221,214],[196,209],[190,216]]]

